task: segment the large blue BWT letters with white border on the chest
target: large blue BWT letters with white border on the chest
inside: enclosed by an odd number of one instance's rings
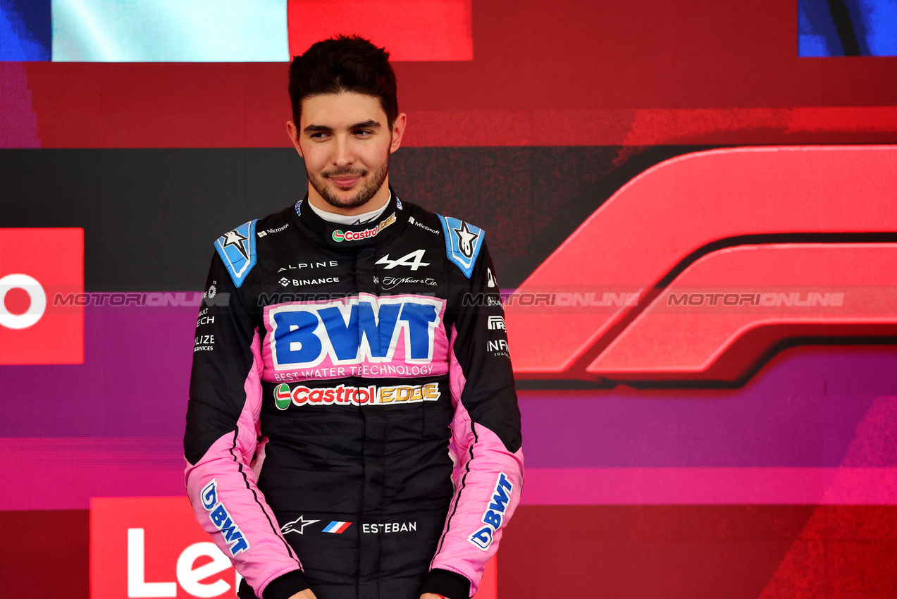
[[[275,369],[433,360],[444,302],[425,297],[358,298],[266,308]]]

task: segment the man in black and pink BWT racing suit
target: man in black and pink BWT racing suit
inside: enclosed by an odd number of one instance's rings
[[[290,66],[308,195],[214,243],[187,410],[196,517],[261,599],[466,599],[523,484],[485,233],[400,200],[388,53]]]

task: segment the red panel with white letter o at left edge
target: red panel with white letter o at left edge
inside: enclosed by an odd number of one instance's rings
[[[0,229],[0,364],[81,364],[83,229]]]

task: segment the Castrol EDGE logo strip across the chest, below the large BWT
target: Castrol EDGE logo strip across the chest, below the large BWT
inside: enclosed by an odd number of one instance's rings
[[[274,388],[274,405],[278,410],[286,410],[294,405],[387,405],[417,404],[435,402],[440,398],[440,386],[426,385],[400,386],[332,386],[311,389],[286,383]]]

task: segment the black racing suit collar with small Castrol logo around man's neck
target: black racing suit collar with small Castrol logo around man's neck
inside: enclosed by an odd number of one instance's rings
[[[389,201],[380,218],[363,224],[347,225],[325,221],[309,209],[308,195],[296,203],[294,210],[289,211],[289,218],[298,229],[305,230],[307,234],[334,249],[380,246],[405,230],[411,212],[410,205],[403,206],[391,188],[389,192]]]

